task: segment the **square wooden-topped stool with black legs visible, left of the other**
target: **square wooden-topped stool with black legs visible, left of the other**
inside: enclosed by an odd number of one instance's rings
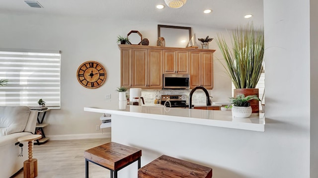
[[[141,166],[141,150],[115,142],[109,142],[84,151],[85,178],[88,178],[88,161],[110,170],[110,178],[117,178],[117,172],[138,161]]]

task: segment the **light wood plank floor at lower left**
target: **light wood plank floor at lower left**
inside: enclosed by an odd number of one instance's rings
[[[48,141],[33,146],[38,159],[37,178],[85,178],[84,150],[110,142],[110,138]],[[89,162],[89,178],[110,178],[110,171]],[[23,169],[11,178],[23,178]]]

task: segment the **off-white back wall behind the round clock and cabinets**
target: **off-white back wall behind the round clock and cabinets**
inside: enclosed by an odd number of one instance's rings
[[[44,16],[37,14],[0,13],[0,48],[61,50],[61,110],[48,113],[44,128],[51,139],[76,139],[110,136],[110,129],[96,131],[99,115],[83,111],[84,107],[102,107],[105,95],[117,101],[116,87],[120,86],[120,51],[118,35],[138,30],[150,45],[157,44],[157,25],[152,22],[113,21],[101,18],[77,18]],[[125,25],[123,25],[125,24]],[[169,24],[168,24],[169,25]],[[173,24],[184,26],[182,24]],[[220,30],[192,27],[197,38],[216,36]],[[216,49],[215,59],[221,57],[215,41],[210,49]],[[107,79],[97,89],[86,89],[77,81],[76,71],[87,60],[96,60],[106,68]],[[214,62],[214,85],[210,92],[214,100],[227,101],[231,95],[231,81],[224,75],[219,61]],[[106,135],[99,135],[102,131]]]

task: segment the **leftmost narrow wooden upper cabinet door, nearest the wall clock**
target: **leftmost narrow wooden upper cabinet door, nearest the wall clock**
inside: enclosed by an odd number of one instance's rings
[[[122,48],[120,57],[120,85],[124,87],[131,87],[131,48]]]

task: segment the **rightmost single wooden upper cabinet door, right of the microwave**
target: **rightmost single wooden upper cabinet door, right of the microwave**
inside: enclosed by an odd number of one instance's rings
[[[213,89],[213,53],[202,54],[202,86]]]

